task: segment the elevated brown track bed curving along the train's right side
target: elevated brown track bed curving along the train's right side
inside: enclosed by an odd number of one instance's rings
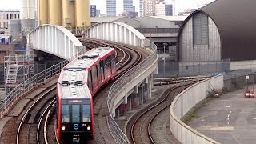
[[[133,66],[138,65],[139,62],[142,62],[142,57],[146,57],[146,56],[145,54],[143,56],[143,53],[141,51],[134,49],[134,46],[120,45],[115,42],[106,43],[105,41],[95,40],[95,39],[93,40],[85,39],[84,41],[83,40],[80,40],[80,41],[86,47],[91,46],[90,43],[93,42],[97,46],[114,47],[118,52],[118,55],[117,55],[118,72],[116,76],[113,78],[112,82],[109,82],[107,86],[104,86],[102,90],[94,97],[94,122],[95,122],[94,126],[95,126],[95,131],[98,131],[99,133],[96,133],[94,141],[91,141],[88,143],[104,143],[106,142],[106,138],[112,137],[110,135],[110,132],[107,127],[107,122],[106,122],[106,114],[108,113],[106,98],[108,96],[108,90],[110,90],[110,86],[114,81],[122,77],[122,74],[125,74],[126,71],[130,70]]]

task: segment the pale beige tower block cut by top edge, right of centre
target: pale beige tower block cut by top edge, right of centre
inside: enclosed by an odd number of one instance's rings
[[[156,0],[144,0],[143,1],[144,16],[154,16],[155,15],[155,4],[156,4]]]

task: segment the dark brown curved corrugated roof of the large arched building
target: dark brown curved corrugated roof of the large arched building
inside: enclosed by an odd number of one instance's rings
[[[255,0],[217,0],[202,7],[218,27],[222,59],[256,59]]]

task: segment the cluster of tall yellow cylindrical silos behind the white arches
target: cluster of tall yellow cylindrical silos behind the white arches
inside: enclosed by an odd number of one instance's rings
[[[81,33],[90,26],[89,0],[39,0],[39,25],[64,26],[75,33]]]

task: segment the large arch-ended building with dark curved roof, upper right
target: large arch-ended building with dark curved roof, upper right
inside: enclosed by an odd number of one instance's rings
[[[255,5],[255,1],[218,0],[190,14],[178,33],[179,61],[230,59],[230,70],[255,67],[256,18],[251,15]]]

